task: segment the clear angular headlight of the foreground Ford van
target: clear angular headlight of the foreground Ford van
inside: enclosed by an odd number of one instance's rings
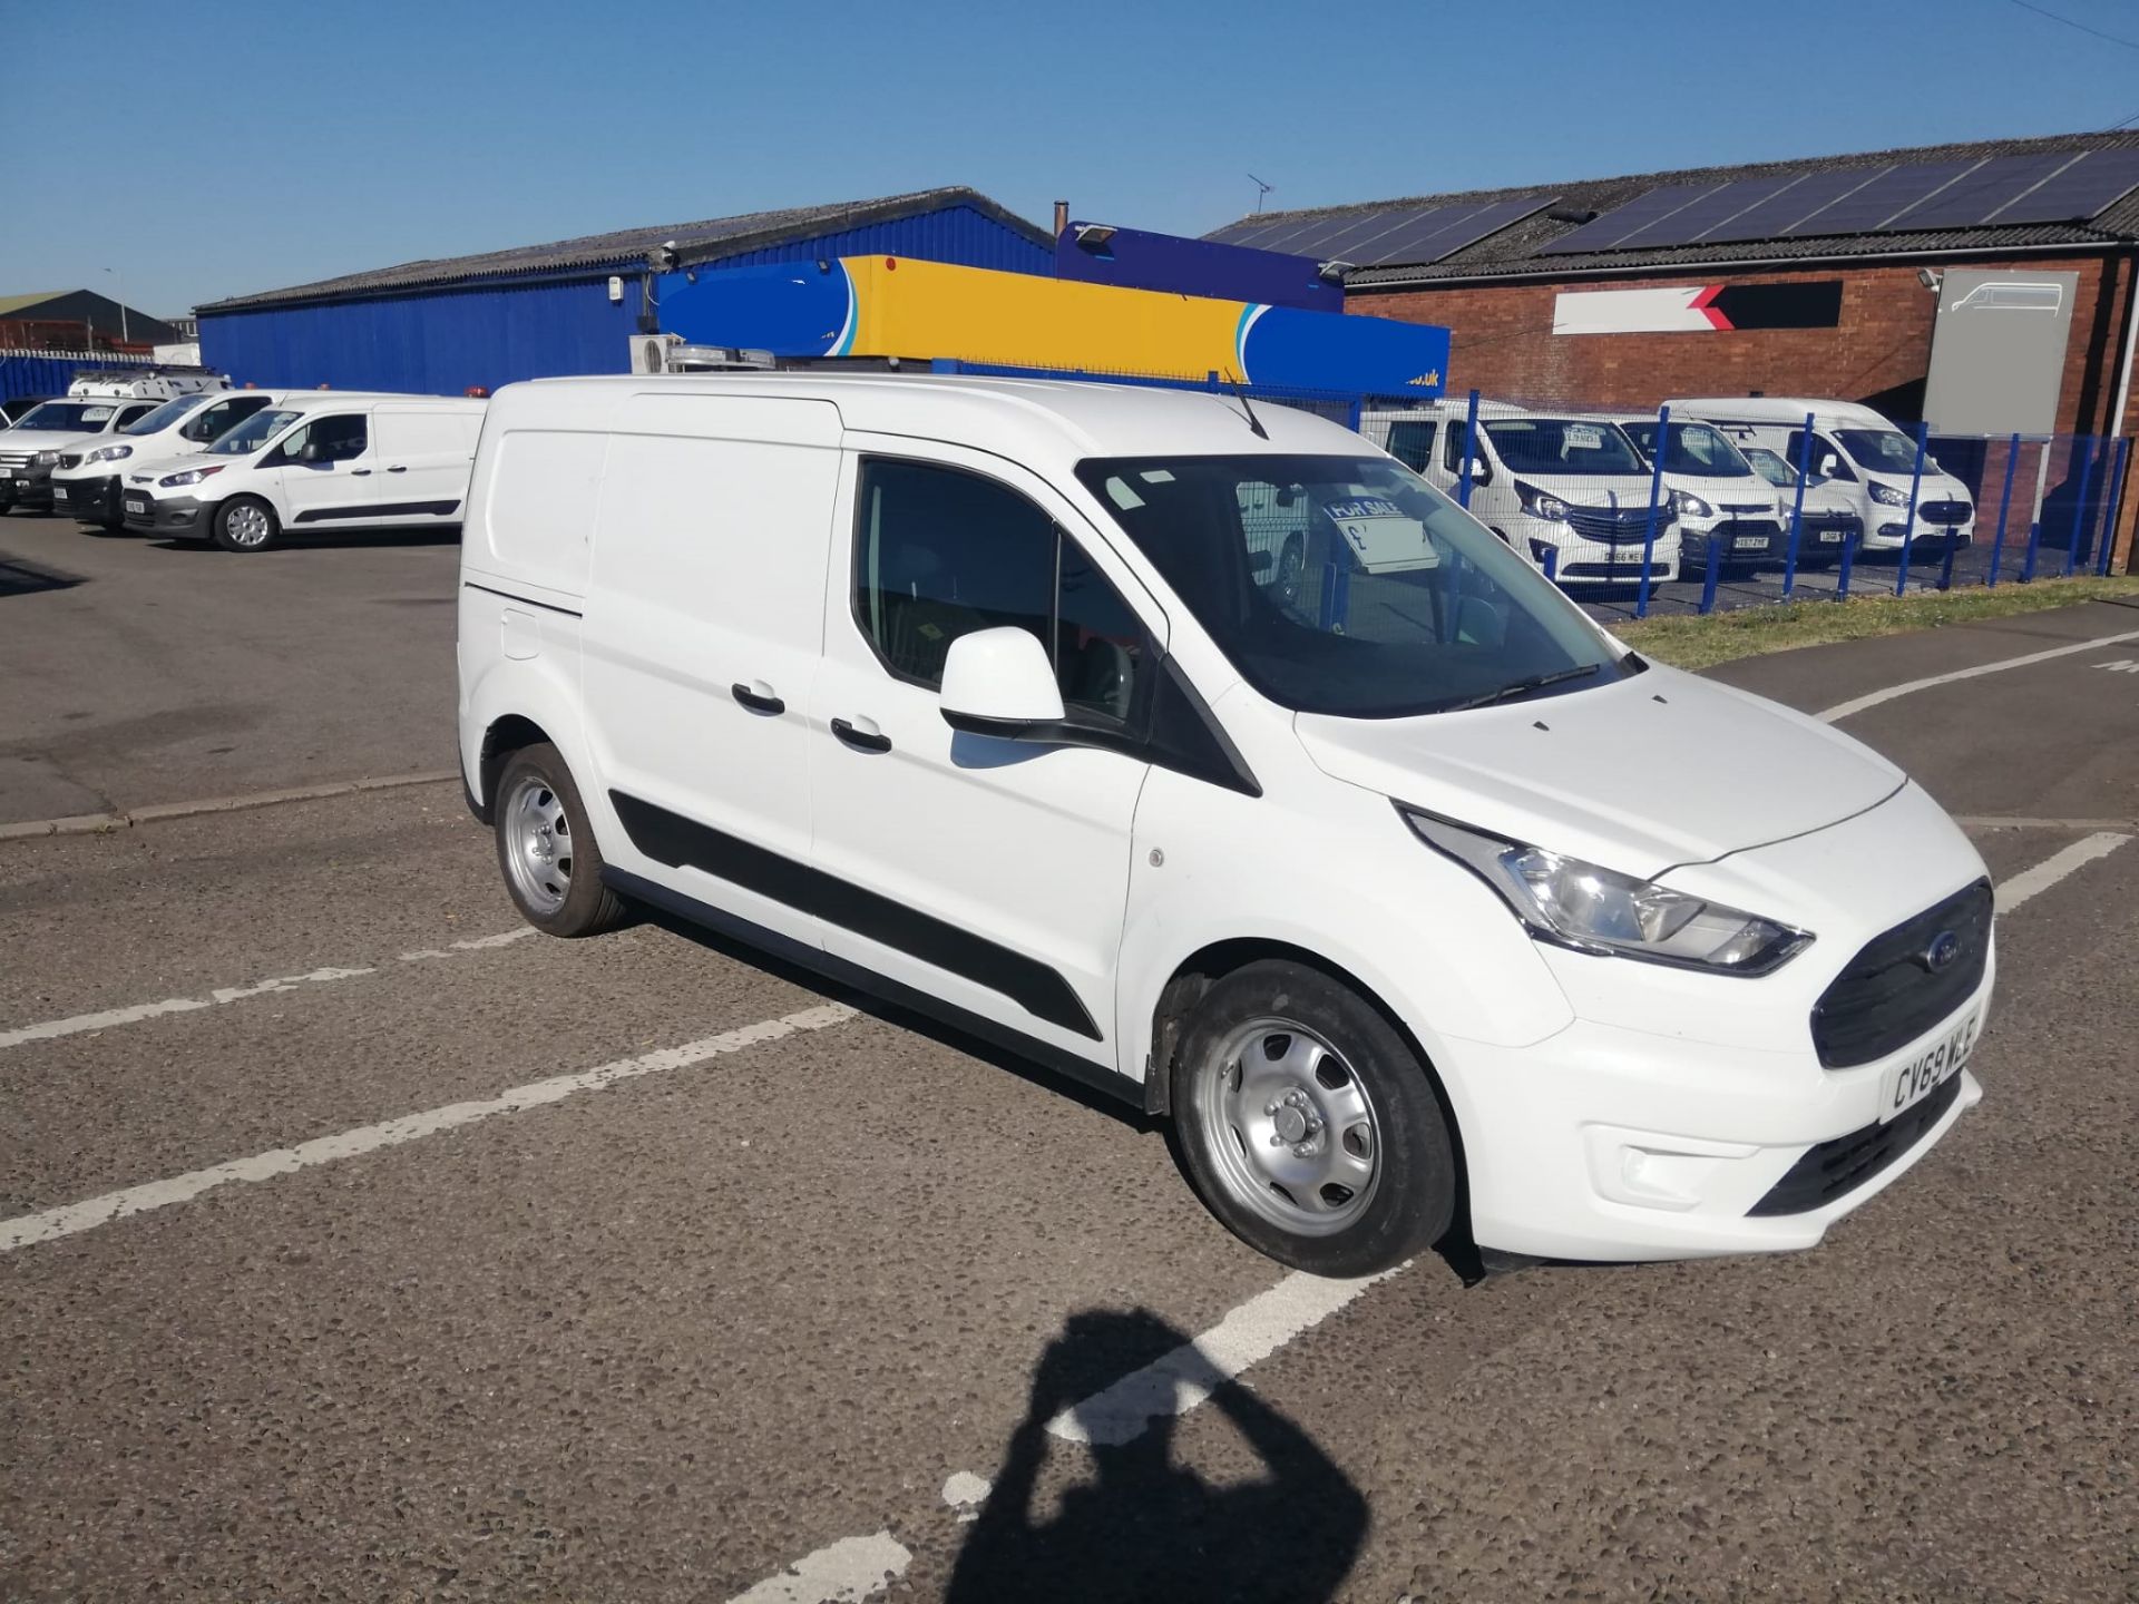
[[[1758,913],[1401,804],[1397,811],[1420,840],[1491,885],[1538,941],[1722,975],[1769,975],[1812,945],[1807,930]]]

